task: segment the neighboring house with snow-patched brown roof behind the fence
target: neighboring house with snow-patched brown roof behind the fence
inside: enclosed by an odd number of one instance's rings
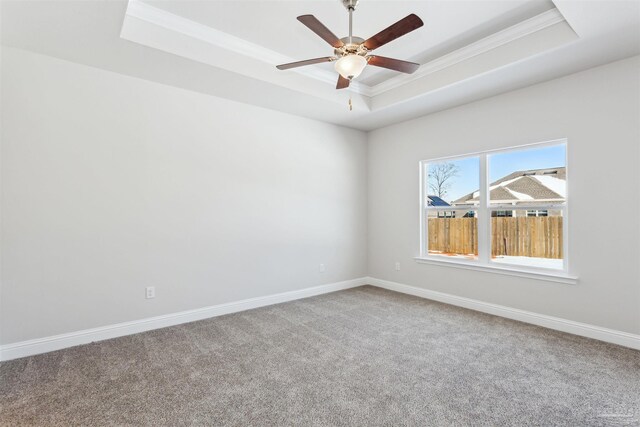
[[[526,207],[540,203],[563,203],[566,200],[566,168],[531,169],[513,172],[489,187],[491,203]],[[480,203],[480,192],[474,191],[451,202],[451,206],[471,208]],[[457,211],[464,216],[468,210]],[[547,210],[494,211],[492,216],[515,216],[516,212],[527,216],[547,216]]]

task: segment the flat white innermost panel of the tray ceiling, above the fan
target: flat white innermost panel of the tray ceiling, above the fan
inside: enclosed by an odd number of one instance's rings
[[[296,20],[297,16],[316,16],[338,37],[349,33],[348,13],[338,0],[143,1],[295,59],[332,53],[330,46]],[[360,0],[353,14],[353,32],[366,39],[415,13],[424,21],[424,27],[381,47],[376,53],[422,62],[552,8],[550,0]],[[384,69],[367,67],[360,80],[377,84],[381,81],[375,78],[377,74],[393,75]]]

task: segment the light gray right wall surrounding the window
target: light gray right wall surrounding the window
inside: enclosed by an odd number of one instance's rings
[[[640,333],[639,73],[634,57],[370,133],[369,275]],[[578,285],[413,261],[420,160],[565,137]]]

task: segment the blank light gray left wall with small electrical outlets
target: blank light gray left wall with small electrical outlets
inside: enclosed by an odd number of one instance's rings
[[[10,48],[2,88],[0,343],[366,274],[364,133]]]

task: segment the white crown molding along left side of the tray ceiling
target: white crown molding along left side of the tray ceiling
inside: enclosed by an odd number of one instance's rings
[[[175,31],[185,36],[210,43],[221,49],[236,52],[240,55],[271,64],[274,67],[277,64],[295,61],[293,58],[265,48],[264,46],[248,42],[239,37],[216,30],[215,28],[208,27],[190,19],[153,7],[147,3],[142,3],[139,0],[129,0],[126,15]],[[336,74],[332,72],[313,67],[296,68],[291,71],[329,83],[332,86],[335,86],[336,84],[337,77]],[[349,86],[349,90],[361,95],[370,96],[370,88],[368,86],[358,84],[357,82],[353,82]]]

